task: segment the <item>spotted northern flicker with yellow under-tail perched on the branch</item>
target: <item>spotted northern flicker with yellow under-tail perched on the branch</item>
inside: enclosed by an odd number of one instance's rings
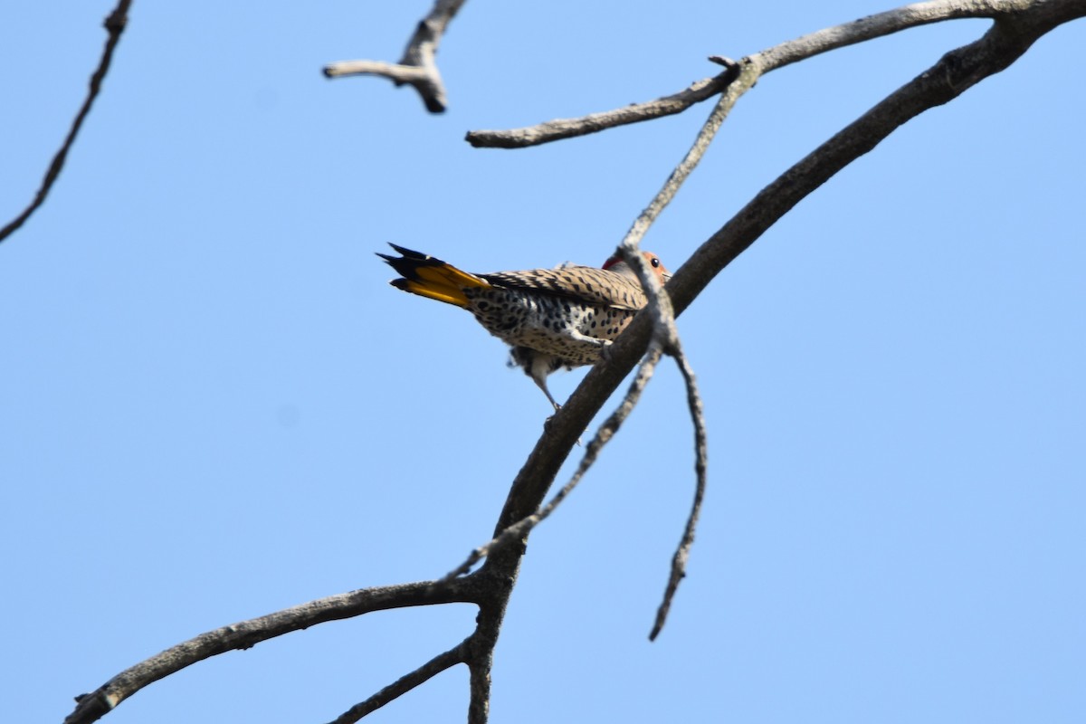
[[[378,254],[400,274],[389,283],[473,314],[488,332],[513,346],[510,363],[523,368],[556,410],[547,376],[599,361],[602,351],[647,302],[637,276],[618,256],[599,269],[563,265],[468,274],[432,256],[389,245],[401,254]],[[660,283],[671,278],[656,255],[644,252],[644,256]]]

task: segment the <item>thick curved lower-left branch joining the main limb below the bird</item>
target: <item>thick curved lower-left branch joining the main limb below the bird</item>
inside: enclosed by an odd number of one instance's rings
[[[447,584],[425,581],[363,588],[209,631],[121,672],[91,694],[76,697],[78,704],[64,722],[97,721],[141,688],[186,666],[226,651],[252,648],[261,642],[318,623],[406,606],[473,602],[472,585],[468,581],[459,579]]]

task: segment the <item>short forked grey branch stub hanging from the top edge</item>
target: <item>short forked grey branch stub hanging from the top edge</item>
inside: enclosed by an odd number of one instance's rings
[[[376,75],[396,86],[409,85],[418,91],[430,113],[443,113],[447,107],[445,86],[438,71],[438,47],[441,37],[466,0],[437,0],[430,13],[419,22],[399,63],[382,61],[339,61],[324,68],[328,78],[353,75]]]

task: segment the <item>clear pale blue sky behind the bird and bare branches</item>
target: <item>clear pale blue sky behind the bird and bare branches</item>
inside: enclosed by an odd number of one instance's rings
[[[4,221],[66,132],[111,7],[4,12]],[[709,107],[523,151],[465,131],[671,93],[716,73],[707,55],[889,8],[469,2],[441,49],[444,115],[321,77],[395,60],[428,7],[135,3],[51,198],[0,244],[11,721],[60,721],[180,640],[433,577],[487,539],[547,403],[469,315],[389,288],[372,253],[598,264]],[[645,247],[678,268],[986,26],[765,77]],[[649,644],[693,490],[665,366],[532,536],[493,721],[1083,721],[1083,34],[1057,29],[894,134],[681,318],[711,468],[671,619]],[[108,721],[327,721],[473,614],[325,624],[192,666]],[[368,721],[463,721],[466,700],[456,669]]]

